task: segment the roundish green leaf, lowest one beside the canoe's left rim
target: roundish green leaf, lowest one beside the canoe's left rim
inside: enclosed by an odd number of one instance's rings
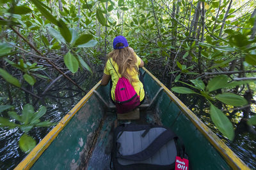
[[[23,152],[29,153],[33,148],[35,148],[36,141],[31,136],[23,134],[19,139],[19,146]]]

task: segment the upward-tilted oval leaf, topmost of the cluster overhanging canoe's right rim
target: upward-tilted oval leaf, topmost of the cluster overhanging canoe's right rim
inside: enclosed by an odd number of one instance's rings
[[[225,85],[227,85],[227,81],[228,81],[227,75],[216,76],[208,82],[206,89],[209,92],[221,89],[221,88],[225,87]]]

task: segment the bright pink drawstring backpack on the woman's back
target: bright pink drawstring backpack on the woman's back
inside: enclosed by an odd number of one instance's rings
[[[111,63],[111,60],[109,60]],[[111,63],[113,66],[113,64]],[[115,67],[113,66],[115,69]],[[116,72],[116,69],[115,69]],[[116,72],[117,76],[118,73]],[[140,96],[137,95],[134,87],[125,77],[119,77],[115,89],[115,104],[117,113],[127,113],[140,105]]]

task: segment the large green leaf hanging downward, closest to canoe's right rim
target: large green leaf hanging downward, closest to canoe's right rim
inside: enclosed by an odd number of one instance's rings
[[[226,136],[230,141],[234,139],[235,133],[233,125],[227,116],[214,105],[211,104],[210,114],[212,122],[216,125],[219,131]]]

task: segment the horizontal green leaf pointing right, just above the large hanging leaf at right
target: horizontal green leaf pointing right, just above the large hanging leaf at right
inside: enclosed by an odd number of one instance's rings
[[[215,98],[231,106],[244,106],[248,103],[244,97],[232,93],[218,94]]]

